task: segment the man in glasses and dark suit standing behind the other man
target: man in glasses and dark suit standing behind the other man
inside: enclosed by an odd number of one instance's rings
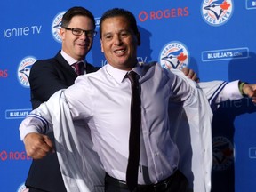
[[[88,10],[73,7],[63,15],[60,28],[61,51],[51,59],[37,60],[30,71],[29,84],[33,109],[48,100],[54,92],[74,84],[78,75],[72,67],[73,63],[84,60],[81,67],[84,73],[99,69],[85,61],[95,35],[95,20]],[[48,136],[52,139],[53,132]],[[48,154],[42,159],[33,159],[25,185],[29,192],[67,191],[56,153]]]

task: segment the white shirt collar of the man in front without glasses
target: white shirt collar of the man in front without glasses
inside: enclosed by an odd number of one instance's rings
[[[113,78],[115,78],[118,83],[122,83],[127,72],[129,72],[129,71],[122,70],[119,68],[114,68],[109,63],[107,64],[106,68],[107,68],[108,74],[110,76],[112,76]],[[142,75],[141,68],[142,67],[139,64],[137,64],[134,68],[132,68],[132,71],[136,72],[141,77],[141,75]]]

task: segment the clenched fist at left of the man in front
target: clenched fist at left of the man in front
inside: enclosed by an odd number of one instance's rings
[[[39,133],[29,133],[23,140],[28,156],[33,159],[40,159],[49,152],[54,152],[52,140],[46,135]]]

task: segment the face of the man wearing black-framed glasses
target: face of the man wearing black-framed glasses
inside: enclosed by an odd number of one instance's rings
[[[94,30],[92,20],[85,16],[74,16],[67,27]],[[85,33],[81,36],[75,36],[71,30],[60,28],[60,36],[62,38],[62,50],[76,60],[84,60],[92,48],[93,37],[86,36]]]

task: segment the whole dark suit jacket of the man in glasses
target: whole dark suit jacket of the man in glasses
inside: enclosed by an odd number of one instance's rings
[[[86,73],[99,68],[86,64]],[[54,58],[37,60],[29,74],[32,108],[37,108],[48,100],[54,92],[74,84],[77,75],[60,52]],[[53,132],[48,136],[53,140]],[[54,143],[54,142],[53,142]],[[60,165],[56,153],[40,160],[33,160],[25,185],[51,192],[65,192],[66,188],[60,174]]]

